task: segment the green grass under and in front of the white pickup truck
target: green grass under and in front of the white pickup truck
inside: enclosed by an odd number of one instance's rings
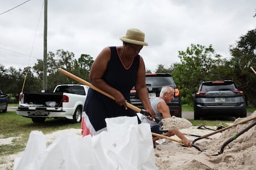
[[[9,145],[0,145],[0,156],[10,155],[25,149],[31,131],[44,134],[54,131],[81,128],[80,123],[70,123],[64,119],[46,119],[44,123],[33,123],[31,119],[18,116],[15,111],[0,113],[0,138],[19,137]]]

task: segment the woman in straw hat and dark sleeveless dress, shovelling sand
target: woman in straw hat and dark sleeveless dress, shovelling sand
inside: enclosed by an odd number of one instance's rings
[[[106,130],[106,118],[136,116],[136,112],[126,106],[126,101],[130,102],[132,87],[135,87],[147,113],[155,116],[147,93],[144,61],[139,55],[143,46],[148,45],[144,38],[141,30],[129,29],[126,36],[120,38],[122,46],[106,47],[96,57],[90,70],[90,80],[115,100],[89,89],[83,112],[83,136]]]

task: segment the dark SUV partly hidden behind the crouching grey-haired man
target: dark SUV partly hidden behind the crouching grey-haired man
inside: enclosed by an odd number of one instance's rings
[[[168,103],[170,108],[170,115],[181,117],[180,90],[175,84],[173,77],[167,73],[146,74],[146,87],[149,91],[149,99],[151,97],[159,97],[161,88],[164,86],[172,87],[175,90],[174,99],[171,103]],[[143,109],[141,100],[136,95],[136,91],[134,88],[130,91],[130,102],[132,103],[132,105]]]

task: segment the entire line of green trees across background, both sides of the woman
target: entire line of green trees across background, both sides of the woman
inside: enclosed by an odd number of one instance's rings
[[[256,106],[256,75],[249,67],[256,68],[256,29],[240,36],[235,45],[229,47],[231,59],[216,54],[212,45],[205,47],[191,44],[184,51],[178,51],[180,62],[169,66],[158,64],[155,73],[169,73],[180,88],[183,103],[192,105],[192,94],[198,90],[201,82],[206,80],[231,79],[246,96],[249,104]],[[75,54],[69,51],[49,51],[47,54],[47,91],[53,91],[59,83],[77,83],[75,80],[58,72],[62,68],[70,73],[89,80],[93,57]],[[151,73],[150,70],[146,70]],[[0,64],[0,90],[7,93],[13,102],[17,102],[19,93],[23,91],[41,91],[43,77],[43,60],[33,67],[23,69],[10,67],[5,69]],[[25,81],[24,81],[25,80]],[[24,83],[25,82],[25,83]],[[23,86],[24,85],[24,86]]]

